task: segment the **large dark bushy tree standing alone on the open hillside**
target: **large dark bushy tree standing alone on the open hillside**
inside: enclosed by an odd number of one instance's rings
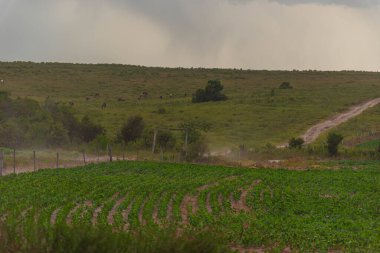
[[[222,93],[223,85],[219,80],[210,80],[205,89],[199,89],[193,96],[193,103],[203,103],[209,101],[227,100],[227,96]]]

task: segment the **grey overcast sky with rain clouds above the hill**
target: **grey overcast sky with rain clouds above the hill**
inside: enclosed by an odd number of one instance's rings
[[[380,0],[0,0],[0,61],[380,71]]]

